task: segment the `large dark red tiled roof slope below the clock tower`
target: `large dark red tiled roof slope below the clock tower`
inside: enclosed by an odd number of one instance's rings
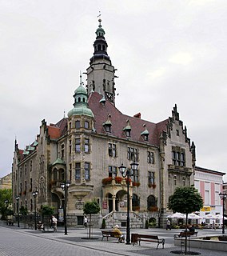
[[[110,116],[111,122],[111,134],[119,138],[127,138],[123,131],[124,127],[127,124],[127,120],[131,126],[131,136],[129,139],[137,142],[145,142],[141,137],[141,132],[146,129],[149,131],[149,144],[159,145],[159,134],[163,130],[166,130],[165,124],[168,120],[160,122],[157,124],[153,122],[148,122],[142,120],[141,118],[130,117],[128,115],[122,114],[113,104],[109,101],[106,101],[106,104],[102,104],[99,101],[102,99],[102,95],[97,92],[90,94],[88,100],[90,109],[94,113],[95,123],[94,127],[97,133],[106,134],[106,130],[103,128],[103,123],[106,122]],[[144,127],[145,125],[145,127]]]

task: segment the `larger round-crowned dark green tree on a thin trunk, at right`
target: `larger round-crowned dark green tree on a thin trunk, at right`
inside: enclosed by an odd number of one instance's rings
[[[193,211],[201,210],[202,207],[203,200],[201,194],[194,186],[177,187],[174,193],[169,197],[169,210],[186,214],[185,232],[187,232],[188,214],[191,214]],[[187,254],[187,235],[185,235],[185,254]]]

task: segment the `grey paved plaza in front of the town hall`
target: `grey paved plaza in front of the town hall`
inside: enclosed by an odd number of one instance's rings
[[[117,239],[106,238],[102,241],[102,232],[100,229],[92,230],[92,239],[88,239],[88,229],[74,228],[68,229],[68,235],[64,234],[64,228],[58,227],[58,231],[41,232],[38,230],[25,229],[21,225],[6,226],[6,223],[0,222],[0,256],[8,255],[176,255],[174,250],[181,250],[181,247],[174,246],[173,235],[179,234],[180,230],[131,230],[131,233],[154,234],[160,238],[165,238],[165,249],[158,248],[154,242],[141,242],[141,246],[125,245],[117,243]],[[125,233],[125,230],[124,230]],[[221,230],[199,230],[198,235],[221,235]],[[201,253],[206,256],[224,256],[224,251],[201,250],[191,248],[190,251]]]

